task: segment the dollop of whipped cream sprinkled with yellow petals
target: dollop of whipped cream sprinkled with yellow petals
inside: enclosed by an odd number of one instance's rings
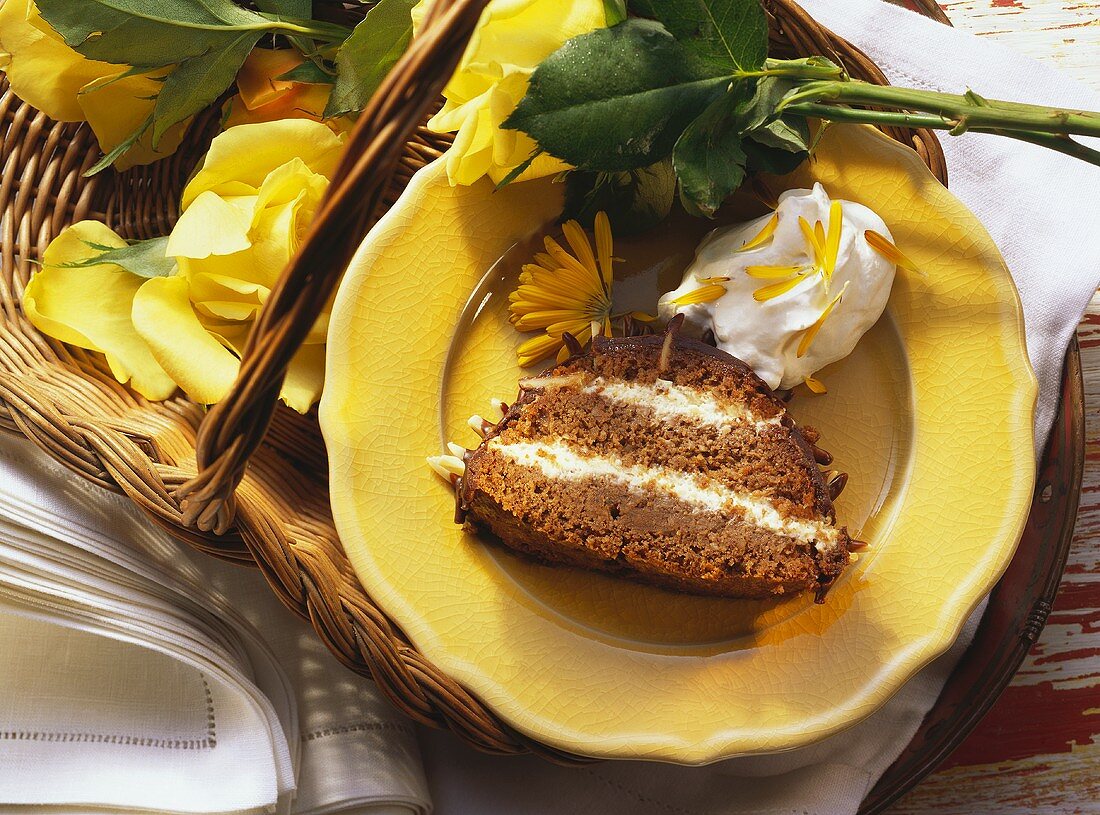
[[[772,219],[771,236],[755,241]],[[794,387],[851,353],[887,306],[895,267],[870,246],[867,230],[893,240],[875,212],[832,201],[821,184],[788,190],[774,213],[708,234],[658,312],[666,320],[683,312],[686,328],[711,329],[719,349],[770,387]],[[695,291],[707,301],[691,302]]]

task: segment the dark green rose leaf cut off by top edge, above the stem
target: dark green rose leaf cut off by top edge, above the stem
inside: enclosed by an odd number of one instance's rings
[[[639,0],[631,7],[664,23],[696,70],[756,70],[768,57],[768,20],[759,0]]]

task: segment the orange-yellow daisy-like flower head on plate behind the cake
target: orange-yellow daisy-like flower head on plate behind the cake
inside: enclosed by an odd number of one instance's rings
[[[604,212],[596,214],[595,251],[576,221],[568,221],[562,232],[569,250],[547,236],[546,252],[524,265],[519,286],[508,296],[508,320],[516,330],[544,332],[519,346],[524,367],[554,354],[559,362],[566,359],[569,349],[562,339],[566,332],[582,345],[593,331],[612,332],[610,222]]]

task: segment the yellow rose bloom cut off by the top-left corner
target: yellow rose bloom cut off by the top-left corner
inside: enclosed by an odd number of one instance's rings
[[[0,4],[0,70],[23,101],[59,122],[87,121],[109,153],[148,118],[164,73],[121,77],[129,67],[88,59],[70,48],[42,19],[33,0]],[[164,134],[154,151],[146,133],[116,162],[118,169],[148,164],[173,153],[186,122]]]

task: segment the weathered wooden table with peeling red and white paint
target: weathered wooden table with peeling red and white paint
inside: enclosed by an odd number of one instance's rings
[[[957,27],[1052,63],[1100,89],[1100,0],[941,4]],[[989,716],[936,773],[891,810],[895,815],[1100,813],[1100,294],[1078,337],[1085,372],[1085,484],[1054,613]]]

